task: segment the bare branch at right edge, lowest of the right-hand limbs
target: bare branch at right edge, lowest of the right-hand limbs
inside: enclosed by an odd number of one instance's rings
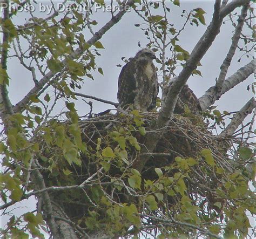
[[[244,121],[248,114],[251,114],[256,107],[256,101],[251,98],[239,112],[235,113],[230,124],[219,134],[219,138],[226,138],[231,136],[238,126]]]

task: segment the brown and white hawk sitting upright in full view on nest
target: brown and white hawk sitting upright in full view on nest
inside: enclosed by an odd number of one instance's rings
[[[158,82],[153,60],[156,56],[150,49],[138,51],[122,69],[118,78],[117,99],[119,104],[134,104],[142,111],[156,107]]]

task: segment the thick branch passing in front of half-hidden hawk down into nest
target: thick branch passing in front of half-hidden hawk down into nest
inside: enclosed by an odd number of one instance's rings
[[[190,58],[186,62],[186,66],[180,72],[177,79],[173,81],[170,89],[165,97],[165,102],[159,111],[158,119],[156,122],[156,126],[154,129],[163,128],[167,126],[170,122],[170,119],[173,115],[174,108],[177,103],[178,95],[182,90],[183,86],[186,84],[186,81],[191,76],[191,73],[194,69],[197,68],[198,63],[201,58],[203,58],[204,54],[207,52],[209,47],[212,45],[213,40],[218,35],[220,31],[220,26],[222,23],[222,19],[219,17],[220,11],[220,0],[216,0],[214,4],[214,12],[212,17],[212,22],[207,27],[203,36],[199,39],[198,43],[194,47],[191,52]],[[162,133],[147,133],[144,145],[140,153],[148,153],[153,152],[156,147],[159,139],[161,138]],[[140,155],[139,159],[134,162],[133,167],[135,167],[139,172],[142,171],[145,163],[149,160],[149,155]]]

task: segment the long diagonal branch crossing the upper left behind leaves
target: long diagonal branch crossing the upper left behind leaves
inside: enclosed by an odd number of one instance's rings
[[[125,8],[125,6],[131,6],[133,4],[133,0],[128,0],[127,3],[124,5],[123,9]],[[126,13],[125,10],[120,10],[116,16],[114,16],[113,18],[111,18],[111,20],[109,22],[107,22],[98,32],[95,33],[94,36],[92,36],[91,39],[89,39],[86,44],[89,46],[92,46],[94,43],[96,43],[100,38],[102,38],[102,36],[109,30],[112,28],[113,25],[117,24],[120,19],[124,16],[124,14]],[[79,58],[80,56],[82,56],[84,50],[81,49],[80,47],[78,47],[78,49],[76,51],[74,51],[72,54],[70,54],[68,59],[63,60],[62,65],[66,65],[67,62],[71,59],[76,59]],[[60,70],[62,71],[62,70]],[[14,106],[14,112],[22,112],[24,110],[24,107],[26,104],[29,103],[30,101],[30,96],[33,94],[38,94],[40,90],[42,90],[42,88],[44,87],[44,85],[46,83],[48,83],[50,81],[50,79],[55,76],[55,74],[58,72],[53,73],[52,71],[49,71],[48,73],[45,74],[45,76],[38,81],[38,84],[33,87],[28,94],[25,95],[25,97],[19,101],[19,103],[17,103]],[[38,96],[38,95],[37,95]]]

